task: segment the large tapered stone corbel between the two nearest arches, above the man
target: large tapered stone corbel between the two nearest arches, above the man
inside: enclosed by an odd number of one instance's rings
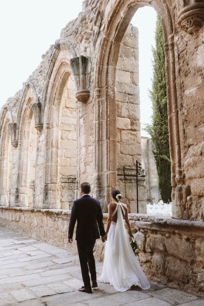
[[[76,98],[78,101],[86,103],[90,97],[90,58],[83,55],[71,58],[70,65],[74,73],[74,79],[77,88]]]

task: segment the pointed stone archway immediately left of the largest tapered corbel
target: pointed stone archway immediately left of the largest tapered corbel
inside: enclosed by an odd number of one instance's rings
[[[70,209],[77,177],[77,103],[66,52],[61,51],[45,107],[43,208]]]

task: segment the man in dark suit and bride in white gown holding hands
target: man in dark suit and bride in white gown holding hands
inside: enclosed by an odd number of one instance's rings
[[[68,238],[72,243],[77,221],[76,241],[84,282],[79,291],[92,293],[92,288],[98,286],[93,248],[100,236],[103,242],[106,241],[106,245],[103,271],[98,281],[110,283],[120,292],[130,289],[132,285],[149,289],[150,284],[130,246],[124,225],[125,219],[128,230],[131,230],[128,211],[126,204],[120,203],[122,196],[119,190],[111,192],[112,203],[108,205],[106,232],[100,202],[89,195],[90,191],[89,183],[81,184],[81,198],[73,203],[69,223]]]

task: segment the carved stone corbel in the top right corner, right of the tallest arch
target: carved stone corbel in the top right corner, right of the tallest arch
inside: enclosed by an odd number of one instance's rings
[[[197,34],[204,24],[204,1],[177,0],[178,24],[188,34]]]

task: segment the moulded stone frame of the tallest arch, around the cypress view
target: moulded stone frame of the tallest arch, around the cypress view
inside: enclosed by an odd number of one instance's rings
[[[104,40],[100,46],[98,65],[95,69],[96,84],[96,104],[106,110],[107,116],[104,118],[104,125],[99,125],[101,121],[98,117],[95,124],[96,134],[107,134],[107,142],[100,139],[96,142],[96,151],[100,151],[96,162],[96,196],[104,198],[104,202],[109,202],[111,188],[117,186],[117,122],[116,122],[116,70],[119,58],[121,42],[127,27],[139,7],[149,5],[149,1],[121,1],[120,4],[114,3],[111,10],[107,11],[107,22],[105,24]],[[151,2],[151,6],[156,9],[161,17],[165,41],[165,58],[167,75],[167,95],[168,95],[168,114],[169,114],[169,134],[171,146],[172,161],[172,186],[174,205],[184,205],[186,202],[187,189],[183,181],[183,172],[181,167],[181,148],[179,136],[179,118],[176,97],[176,74],[175,74],[175,54],[173,48],[173,26],[168,4],[164,2]],[[164,13],[165,12],[165,13]],[[105,46],[105,47],[104,47]],[[104,52],[104,50],[106,50]],[[173,80],[173,81],[172,81]],[[99,107],[99,106],[98,106]],[[95,109],[97,112],[97,110]],[[101,145],[103,143],[103,146]],[[107,156],[107,160],[100,160],[100,156]],[[101,183],[106,182],[105,186]],[[183,199],[176,203],[175,191],[176,186],[183,190]],[[183,204],[182,204],[183,203]],[[177,215],[179,217],[180,215]]]

